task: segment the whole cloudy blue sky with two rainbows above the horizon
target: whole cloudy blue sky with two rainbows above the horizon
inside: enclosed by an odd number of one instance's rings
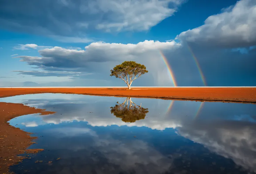
[[[0,86],[256,86],[255,0],[0,1]]]

